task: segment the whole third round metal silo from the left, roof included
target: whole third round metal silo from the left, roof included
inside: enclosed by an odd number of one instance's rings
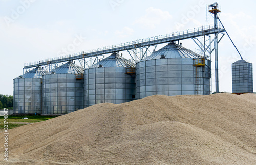
[[[113,53],[84,70],[85,107],[98,103],[114,103],[135,99],[135,65]]]

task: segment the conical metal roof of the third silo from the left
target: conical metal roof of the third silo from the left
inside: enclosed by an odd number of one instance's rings
[[[111,54],[109,57],[99,61],[97,64],[92,65],[91,67],[87,68],[98,68],[98,67],[124,67],[124,68],[131,68],[135,67],[135,64],[132,63],[130,60],[119,56],[117,53]]]

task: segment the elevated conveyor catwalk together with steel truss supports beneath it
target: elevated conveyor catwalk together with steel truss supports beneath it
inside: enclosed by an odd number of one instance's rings
[[[220,28],[221,27],[221,28]],[[194,28],[186,31],[175,32],[167,35],[155,36],[147,39],[140,39],[131,42],[122,43],[119,45],[113,45],[98,49],[93,49],[90,51],[82,51],[75,54],[70,54],[69,56],[57,57],[53,59],[46,59],[42,61],[26,63],[24,65],[24,70],[28,71],[31,68],[38,66],[45,66],[48,71],[51,71],[61,65],[63,62],[69,60],[79,60],[80,65],[83,68],[90,67],[91,65],[97,63],[99,60],[104,58],[105,54],[113,53],[113,52],[122,52],[127,51],[133,62],[140,61],[141,59],[149,56],[152,52],[150,51],[151,47],[154,47],[153,52],[155,51],[158,44],[169,43],[180,41],[184,39],[193,39],[194,42],[199,46],[199,48],[204,52],[204,57],[208,58],[211,56],[211,53],[214,49],[211,50],[211,44],[215,40],[211,40],[211,34],[222,34],[224,36],[225,30],[222,26],[218,25],[216,28],[213,25],[202,26],[200,28]],[[204,43],[200,42],[197,38],[204,37]],[[209,37],[209,39],[205,40],[205,37]],[[222,39],[220,38],[220,40]],[[220,42],[218,41],[218,43]],[[206,44],[209,42],[208,44]],[[215,46],[214,46],[215,47]]]

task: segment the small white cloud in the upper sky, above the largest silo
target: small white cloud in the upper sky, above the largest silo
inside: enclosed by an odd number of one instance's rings
[[[161,9],[155,9],[150,7],[146,10],[146,15],[137,19],[134,24],[140,24],[145,28],[156,28],[162,21],[168,21],[172,19],[173,16],[167,11],[162,11]]]

